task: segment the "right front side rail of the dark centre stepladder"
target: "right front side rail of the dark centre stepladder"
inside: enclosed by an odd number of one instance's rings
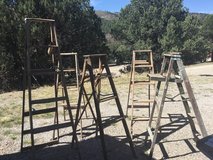
[[[111,72],[109,70],[109,66],[108,66],[107,61],[106,61],[106,57],[104,57],[104,58],[105,58],[104,59],[104,66],[105,66],[105,69],[106,69],[106,73],[108,75],[111,75]],[[132,142],[132,139],[131,139],[131,135],[130,135],[126,120],[125,120],[125,116],[124,116],[124,113],[123,113],[123,110],[122,110],[122,107],[121,107],[120,100],[118,98],[118,94],[117,94],[117,91],[116,91],[116,88],[115,88],[115,84],[113,82],[112,77],[108,76],[108,80],[109,80],[110,85],[112,87],[113,94],[116,97],[115,101],[116,101],[116,104],[117,104],[117,108],[118,108],[119,114],[121,116],[121,120],[122,120],[122,123],[123,123],[124,130],[126,132],[127,139],[129,141],[130,149],[132,151],[133,156],[136,157],[136,153],[135,153],[135,150],[134,150],[134,145],[133,145],[133,142]]]

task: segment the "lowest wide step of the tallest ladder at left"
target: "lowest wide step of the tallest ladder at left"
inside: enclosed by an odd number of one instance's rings
[[[40,128],[34,128],[32,130],[33,134],[38,134],[38,133],[43,133],[43,132],[48,132],[48,131],[52,131],[52,130],[56,130],[56,129],[61,129],[61,128],[66,128],[66,127],[70,127],[72,126],[72,124],[70,122],[67,123],[62,123],[62,124],[53,124],[53,125],[49,125],[49,126],[44,126],[44,127],[40,127]],[[31,134],[31,130],[25,130],[23,131],[23,134]]]

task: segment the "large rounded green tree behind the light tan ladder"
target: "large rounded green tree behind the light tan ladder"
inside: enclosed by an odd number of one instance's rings
[[[152,49],[156,62],[161,53],[181,48],[181,23],[187,13],[182,0],[132,0],[121,10],[112,34],[131,50]]]

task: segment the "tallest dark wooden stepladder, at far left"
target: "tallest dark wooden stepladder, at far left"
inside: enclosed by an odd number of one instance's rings
[[[43,25],[47,27],[47,29],[49,28],[50,31],[49,44],[44,45],[32,43],[34,38],[32,37],[32,34],[30,32],[33,27],[32,25],[33,26]],[[77,142],[77,136],[71,110],[68,110],[70,120],[66,123],[59,122],[58,103],[64,101],[67,106],[69,106],[70,103],[65,83],[64,71],[62,67],[61,55],[57,41],[55,20],[41,19],[41,18],[26,18],[25,29],[26,29],[26,58],[23,77],[21,151],[58,143],[59,129],[65,127],[72,128],[73,138]],[[37,50],[41,49],[43,51],[44,50],[46,51],[46,49],[48,49],[49,55],[47,57],[49,59],[47,59],[47,61],[44,62],[45,64],[43,64],[43,66],[41,62],[37,62],[40,66],[42,66],[38,67],[38,65],[37,66],[34,65],[35,61],[33,61],[32,63],[32,57],[35,56],[34,54]],[[33,83],[31,81],[32,76],[46,77],[46,78],[51,77],[54,85],[52,88],[52,92],[48,92],[48,95],[50,96],[48,96],[47,94],[45,95],[44,92],[42,91],[39,93],[39,90],[38,91],[36,90],[36,92],[33,90]],[[58,93],[59,81],[61,81],[61,84],[64,88],[63,96],[59,95]],[[45,116],[47,115],[48,117],[50,117],[50,115],[52,116],[53,124],[52,122],[51,124],[47,123],[41,124],[41,120],[39,118],[41,117],[45,118]],[[47,132],[49,131],[56,131],[57,133],[56,134],[57,136],[56,137],[54,136],[53,140],[42,144],[35,143],[36,138],[39,138],[41,134],[44,135],[45,133],[48,134]],[[30,145],[24,144],[24,137],[27,135],[30,136]]]

